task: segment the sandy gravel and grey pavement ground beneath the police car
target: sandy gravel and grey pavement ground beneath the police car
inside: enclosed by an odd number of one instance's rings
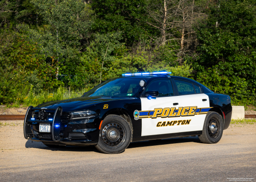
[[[231,124],[217,144],[198,137],[133,142],[122,153],[49,148],[24,139],[23,120],[0,126],[0,181],[256,181],[256,124]]]

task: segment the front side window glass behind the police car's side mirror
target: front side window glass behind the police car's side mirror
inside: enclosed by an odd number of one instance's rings
[[[156,80],[153,81],[146,89],[147,91],[157,90],[159,97],[172,96],[174,95],[174,89],[170,80]]]

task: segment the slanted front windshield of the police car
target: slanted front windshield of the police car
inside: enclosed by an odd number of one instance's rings
[[[96,86],[83,97],[93,96],[111,96],[111,97],[133,97],[142,89],[139,83],[141,78],[118,78],[107,80]],[[147,80],[147,79],[144,79]]]

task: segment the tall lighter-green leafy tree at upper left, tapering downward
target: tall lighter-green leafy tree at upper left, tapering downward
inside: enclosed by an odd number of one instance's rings
[[[61,81],[70,86],[79,65],[80,51],[90,37],[91,6],[80,0],[31,2],[47,22],[38,31],[31,31],[32,37],[39,41],[41,53],[48,62],[56,65],[56,79],[62,74]]]

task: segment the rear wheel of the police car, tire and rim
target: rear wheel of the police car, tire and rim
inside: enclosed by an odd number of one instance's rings
[[[210,111],[204,121],[203,133],[199,136],[202,143],[218,143],[223,134],[223,119],[219,113]]]

